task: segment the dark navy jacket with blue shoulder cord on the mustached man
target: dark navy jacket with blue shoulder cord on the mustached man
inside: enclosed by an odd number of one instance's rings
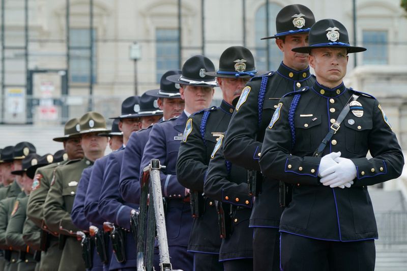
[[[226,131],[234,109],[222,101],[220,107],[196,112],[188,118],[190,124],[184,132],[187,136],[181,142],[178,153],[177,177],[183,186],[199,195],[203,193],[203,179],[212,151],[219,136]],[[188,251],[219,253],[221,238],[214,230],[218,225],[215,204],[208,197],[205,197],[204,204],[204,213],[193,219]]]

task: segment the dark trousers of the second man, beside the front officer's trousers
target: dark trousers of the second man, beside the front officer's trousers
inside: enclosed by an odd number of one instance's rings
[[[280,270],[280,234],[278,228],[253,229],[253,270]]]

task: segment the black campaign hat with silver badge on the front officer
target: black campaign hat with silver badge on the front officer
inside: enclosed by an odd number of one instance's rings
[[[309,32],[308,46],[292,49],[294,52],[309,53],[313,48],[346,48],[348,53],[366,51],[366,48],[351,46],[343,24],[334,19],[317,21]]]

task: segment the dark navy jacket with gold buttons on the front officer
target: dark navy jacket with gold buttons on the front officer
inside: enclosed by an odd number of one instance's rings
[[[322,155],[340,151],[341,157],[352,160],[357,176],[351,188],[323,186],[317,176],[321,158],[312,157],[354,93],[343,83],[333,89],[315,83],[302,94],[280,100],[260,156],[266,176],[294,184],[293,200],[284,209],[280,231],[345,242],[377,238],[367,186],[398,177],[404,164],[379,102],[361,95],[360,106],[354,110],[351,106]],[[296,109],[292,103],[297,104]],[[370,159],[366,158],[368,151]]]

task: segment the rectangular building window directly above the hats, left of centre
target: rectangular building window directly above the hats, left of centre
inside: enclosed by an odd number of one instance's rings
[[[160,82],[161,76],[168,70],[179,69],[179,34],[178,29],[156,29],[156,81]]]

